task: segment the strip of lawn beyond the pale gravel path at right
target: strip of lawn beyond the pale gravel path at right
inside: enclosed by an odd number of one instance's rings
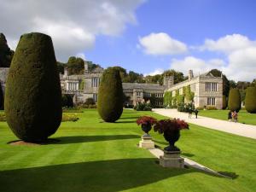
[[[229,110],[200,110],[198,115],[213,119],[228,119]],[[238,113],[238,122],[248,125],[256,125],[256,113],[247,113],[246,110],[240,110]]]

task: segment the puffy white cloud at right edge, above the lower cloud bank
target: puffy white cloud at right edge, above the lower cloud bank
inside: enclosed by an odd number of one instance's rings
[[[207,39],[205,44],[200,47],[201,50],[220,51],[229,54],[237,49],[246,49],[249,46],[256,45],[246,36],[240,34],[227,35],[218,40]]]

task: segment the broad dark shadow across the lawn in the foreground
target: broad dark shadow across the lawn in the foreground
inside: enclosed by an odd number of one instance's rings
[[[196,172],[166,169],[154,161],[154,158],[100,160],[7,170],[0,172],[0,186],[5,192],[115,192]]]

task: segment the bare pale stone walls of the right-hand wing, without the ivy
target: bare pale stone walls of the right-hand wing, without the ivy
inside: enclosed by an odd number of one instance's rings
[[[181,83],[174,84],[166,91],[171,91],[175,96],[175,91],[179,90],[183,94],[183,87],[190,85],[190,90],[195,93],[195,108],[204,108],[205,106],[214,106],[222,108],[223,79],[214,77],[212,73],[204,73],[194,77],[192,70],[189,70],[189,79]]]

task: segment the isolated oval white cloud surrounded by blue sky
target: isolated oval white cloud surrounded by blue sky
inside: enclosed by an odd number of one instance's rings
[[[187,45],[164,32],[150,33],[148,36],[139,38],[143,51],[148,55],[177,55],[187,51]]]

